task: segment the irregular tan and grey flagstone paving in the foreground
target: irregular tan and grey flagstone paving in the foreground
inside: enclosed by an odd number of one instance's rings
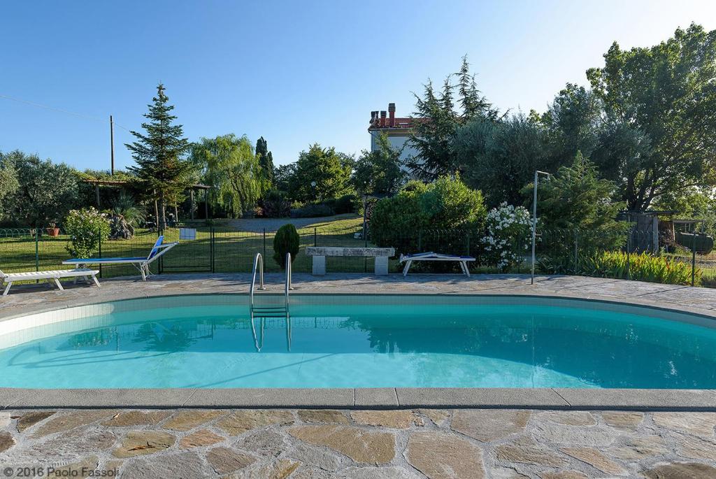
[[[0,477],[715,478],[715,427],[710,412],[3,410]]]

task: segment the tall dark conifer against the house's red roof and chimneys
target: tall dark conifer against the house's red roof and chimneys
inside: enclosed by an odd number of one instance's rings
[[[457,77],[457,83],[453,82],[454,77]],[[470,74],[467,57],[463,57],[460,71],[445,79],[440,92],[435,92],[432,82],[428,80],[423,97],[415,95],[415,100],[417,121],[410,144],[418,154],[410,158],[407,165],[414,175],[426,181],[460,170],[453,155],[453,137],[460,125],[476,117],[498,118],[498,111],[480,95],[475,75]]]

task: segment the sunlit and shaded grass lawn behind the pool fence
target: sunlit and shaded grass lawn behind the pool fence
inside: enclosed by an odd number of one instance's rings
[[[362,231],[362,217],[342,215],[334,221],[315,223],[300,228],[301,251],[306,246],[363,246],[361,239],[354,238],[354,233]],[[228,226],[213,228],[213,271],[216,273],[250,273],[253,257],[256,253],[265,253],[264,261],[267,272],[281,271],[274,261],[274,233],[254,233],[250,231],[233,231]],[[156,233],[139,230],[131,240],[103,241],[102,253],[96,257],[130,257],[146,256],[157,239]],[[69,258],[65,249],[69,237],[65,235],[51,238],[42,236],[37,243],[34,236],[0,237],[0,269],[6,273],[16,271],[68,268],[62,261]],[[197,238],[191,241],[179,240],[179,230],[168,228],[165,241],[179,241],[179,245],[163,256],[163,272],[211,272],[211,228],[197,228]],[[294,261],[294,272],[311,272],[311,258],[299,251]],[[327,258],[328,271],[362,272],[372,271],[372,258]],[[392,261],[397,263],[397,261]],[[397,268],[397,266],[393,266]],[[158,264],[153,263],[153,272],[157,272]],[[102,277],[135,275],[132,266],[103,266]]]

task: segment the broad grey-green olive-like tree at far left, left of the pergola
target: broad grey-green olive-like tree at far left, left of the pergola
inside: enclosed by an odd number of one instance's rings
[[[10,221],[44,228],[77,205],[79,174],[68,165],[17,150],[2,155],[1,162],[14,165],[16,172],[16,189],[3,201]]]

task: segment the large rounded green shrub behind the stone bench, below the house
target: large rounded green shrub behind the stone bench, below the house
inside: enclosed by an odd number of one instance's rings
[[[395,248],[397,255],[431,250],[465,254],[485,215],[482,193],[459,176],[443,176],[428,185],[410,181],[397,195],[374,205],[369,238],[377,246]]]

